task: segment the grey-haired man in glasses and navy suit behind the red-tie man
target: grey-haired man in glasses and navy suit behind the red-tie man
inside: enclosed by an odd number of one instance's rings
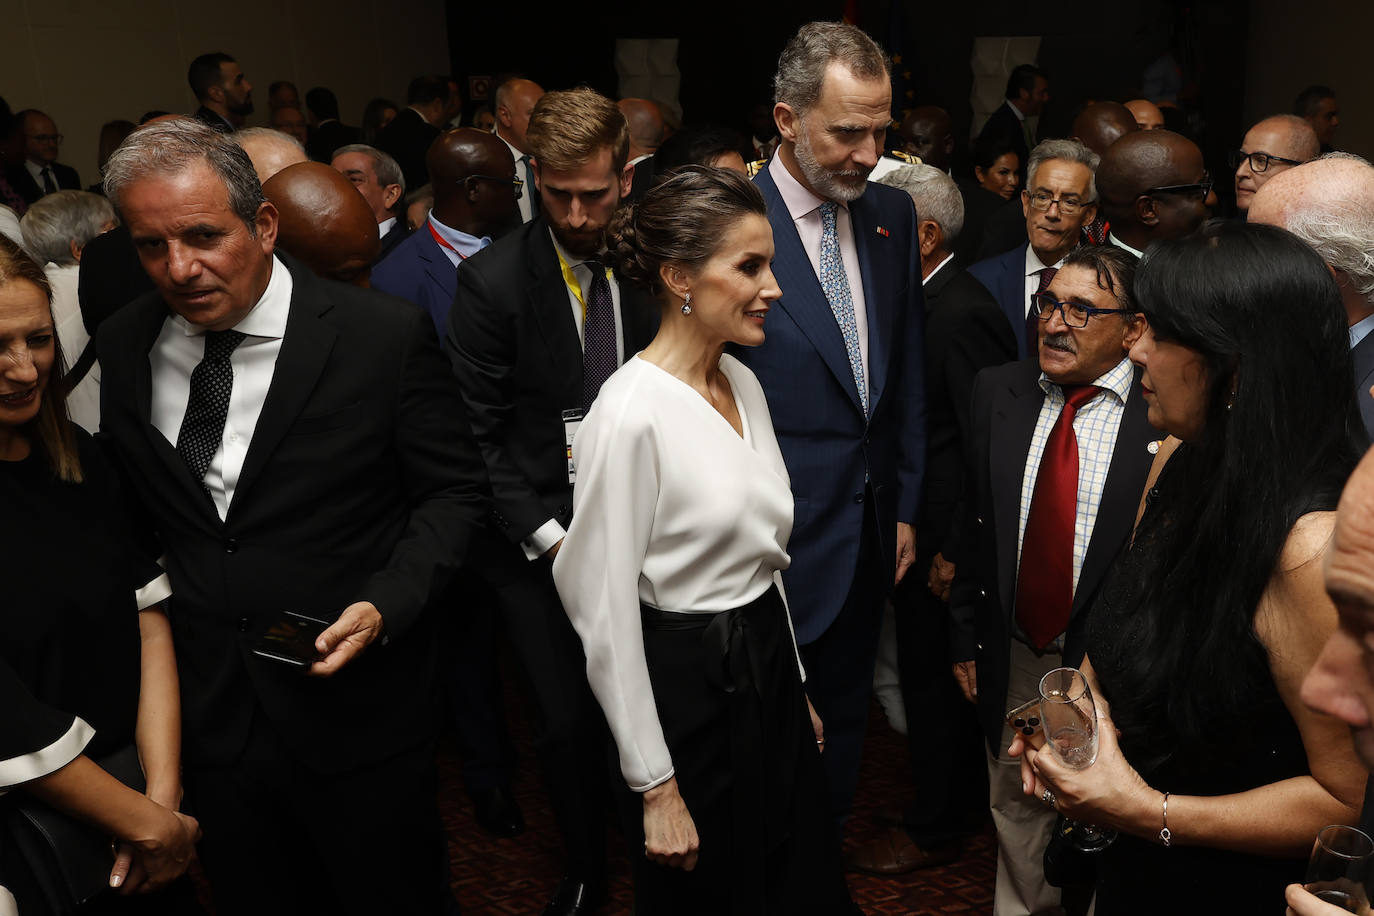
[[[1017,358],[1035,350],[1030,297],[1043,293],[1063,257],[1079,244],[1083,227],[1098,213],[1094,172],[1098,154],[1077,140],[1046,140],[1030,154],[1021,210],[1025,244],[978,261],[969,273],[988,287],[1017,332]]]

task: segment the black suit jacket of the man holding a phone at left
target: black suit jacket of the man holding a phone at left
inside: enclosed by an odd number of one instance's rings
[[[166,551],[188,759],[232,764],[257,707],[297,758],[344,772],[433,739],[423,611],[481,523],[486,475],[429,317],[278,257],[290,317],[224,522],[150,422],[157,293],[100,327],[102,431]],[[331,678],[251,652],[280,611],[333,621],[360,600],[385,641]]]

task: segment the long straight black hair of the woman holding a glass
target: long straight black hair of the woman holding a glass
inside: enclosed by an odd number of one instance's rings
[[[1118,570],[1134,612],[1109,699],[1139,768],[1206,747],[1267,689],[1260,599],[1294,523],[1336,508],[1369,438],[1340,290],[1297,236],[1210,221],[1151,244],[1135,295],[1154,338],[1206,369],[1202,431],[1169,459]]]

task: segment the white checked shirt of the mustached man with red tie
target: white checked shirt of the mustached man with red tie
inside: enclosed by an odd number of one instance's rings
[[[1112,320],[1110,316],[1092,319]],[[1116,452],[1117,434],[1121,431],[1121,417],[1125,416],[1125,401],[1131,396],[1135,367],[1131,360],[1121,360],[1114,368],[1098,376],[1094,385],[1105,389],[1073,415],[1073,434],[1079,441],[1079,501],[1073,516],[1073,588],[1079,588],[1079,574],[1083,573],[1083,559],[1092,542],[1092,529],[1102,507],[1102,488],[1112,468],[1112,455]],[[1030,450],[1026,453],[1025,474],[1021,477],[1021,520],[1017,527],[1017,569],[1021,569],[1021,541],[1026,534],[1026,518],[1030,514],[1030,497],[1035,496],[1035,478],[1040,472],[1040,459],[1059,413],[1063,411],[1063,391],[1058,385],[1040,374],[1040,389],[1044,404],[1030,435]]]

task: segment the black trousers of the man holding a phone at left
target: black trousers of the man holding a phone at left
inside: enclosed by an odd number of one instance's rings
[[[218,916],[456,909],[431,746],[323,775],[258,711],[234,765],[188,765],[184,781]]]

